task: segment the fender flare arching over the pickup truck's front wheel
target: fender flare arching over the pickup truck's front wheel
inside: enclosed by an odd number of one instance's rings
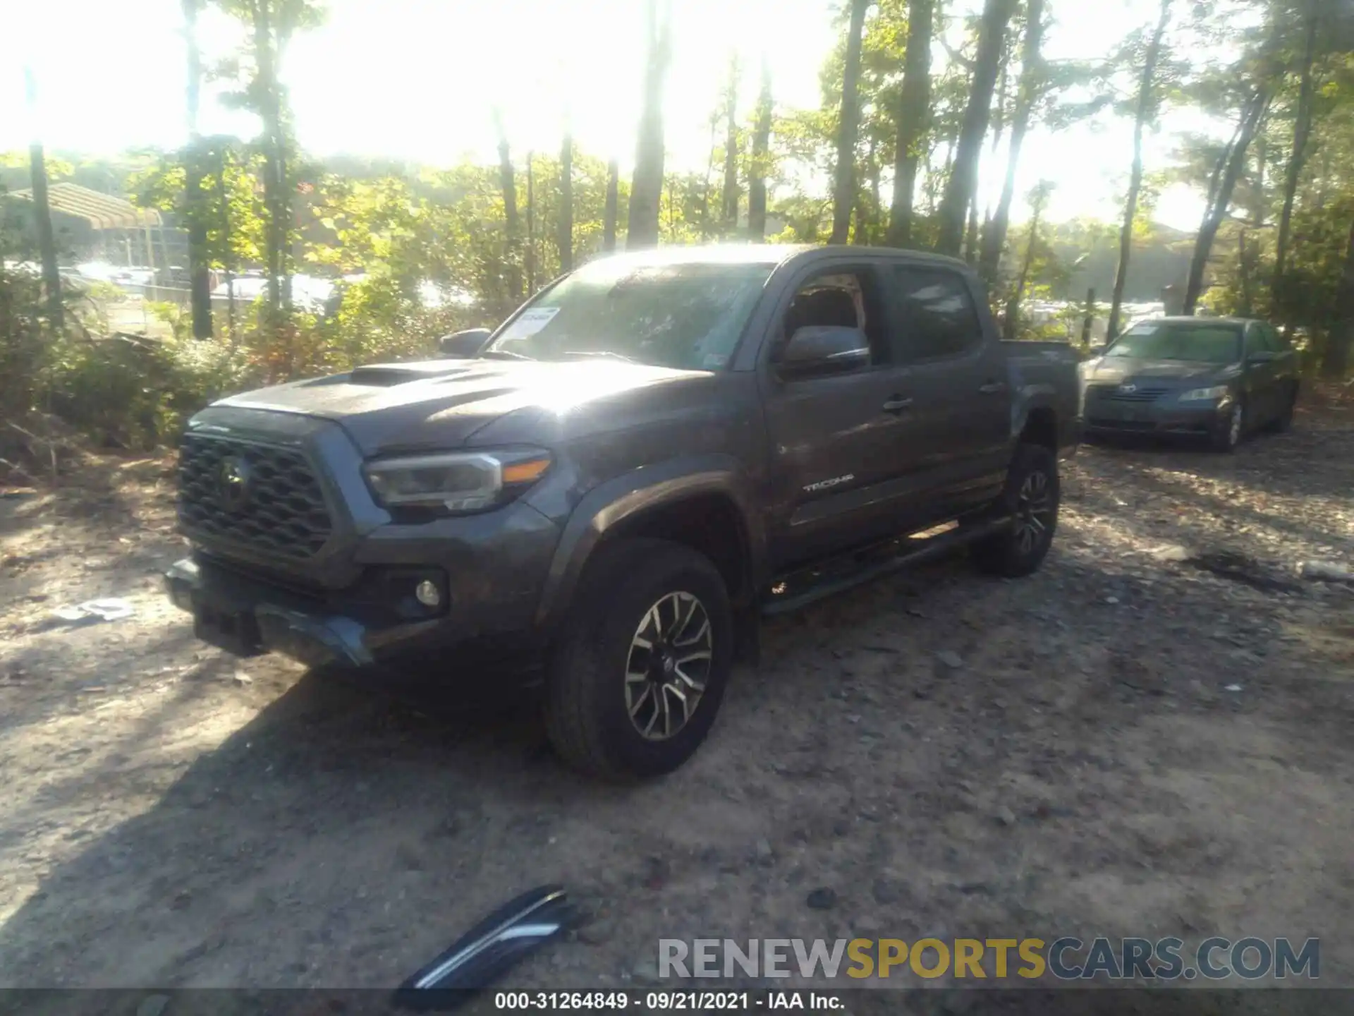
[[[536,625],[554,630],[563,618],[588,559],[607,532],[643,512],[711,493],[733,501],[743,527],[751,588],[765,584],[766,531],[753,509],[751,481],[742,465],[730,455],[682,455],[623,473],[582,497],[569,515],[551,558],[536,608]]]

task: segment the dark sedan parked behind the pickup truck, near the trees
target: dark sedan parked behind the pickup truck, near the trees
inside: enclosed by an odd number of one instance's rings
[[[1089,435],[1177,433],[1231,451],[1251,431],[1285,429],[1297,401],[1297,355],[1265,321],[1140,321],[1082,364]]]

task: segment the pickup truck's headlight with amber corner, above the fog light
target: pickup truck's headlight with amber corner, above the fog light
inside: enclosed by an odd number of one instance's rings
[[[386,508],[482,512],[517,497],[550,469],[540,448],[467,451],[368,462],[372,496]]]

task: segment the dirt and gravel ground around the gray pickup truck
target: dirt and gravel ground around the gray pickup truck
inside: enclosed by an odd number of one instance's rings
[[[672,778],[563,771],[527,696],[238,664],[160,593],[162,461],[0,501],[0,985],[382,986],[521,890],[657,939],[1308,936],[1354,985],[1354,412],[1233,457],[1087,448],[1055,550],[769,623]],[[51,627],[129,596],[131,619]],[[957,664],[957,665],[956,665]],[[812,890],[830,889],[807,905]]]

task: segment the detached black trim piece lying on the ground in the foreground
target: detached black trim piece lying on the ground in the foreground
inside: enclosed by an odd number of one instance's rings
[[[395,1005],[451,1009],[566,931],[574,909],[559,886],[504,904],[395,989]]]

